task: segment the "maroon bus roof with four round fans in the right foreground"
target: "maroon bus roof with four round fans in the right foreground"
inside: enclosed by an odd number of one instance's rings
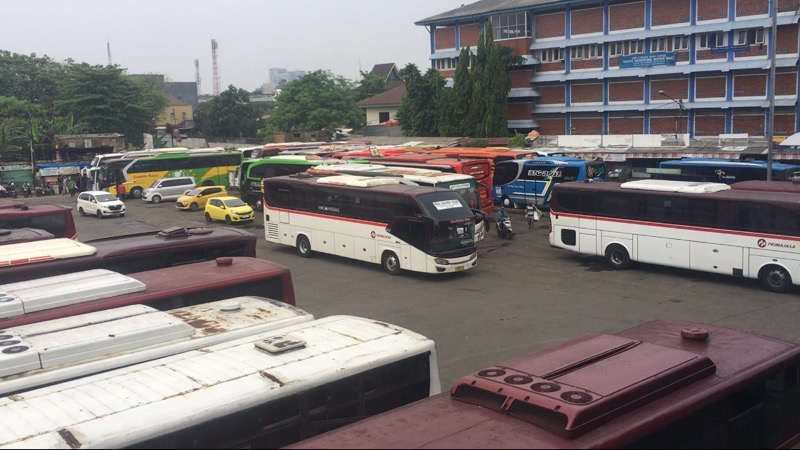
[[[800,346],[653,321],[497,364],[293,448],[789,448]]]

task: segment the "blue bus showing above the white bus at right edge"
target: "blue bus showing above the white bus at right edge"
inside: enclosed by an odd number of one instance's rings
[[[662,161],[658,165],[658,168],[659,173],[657,176],[662,180],[704,181],[732,184],[739,181],[767,179],[766,161],[681,158]],[[772,163],[773,180],[792,181],[792,178],[795,177],[800,177],[800,166],[776,162]]]

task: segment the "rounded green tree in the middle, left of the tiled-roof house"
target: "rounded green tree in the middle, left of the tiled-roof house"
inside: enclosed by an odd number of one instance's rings
[[[338,129],[363,127],[366,114],[358,106],[358,95],[353,82],[330,71],[306,74],[288,83],[275,98],[272,114],[259,130],[259,136],[324,131],[330,138]]]

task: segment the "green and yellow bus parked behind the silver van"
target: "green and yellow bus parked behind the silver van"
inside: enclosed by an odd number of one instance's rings
[[[141,198],[144,188],[159,178],[193,177],[198,186],[227,186],[228,174],[241,163],[239,151],[198,149],[111,161],[101,168],[100,178],[112,194],[116,183],[123,181],[129,196]]]

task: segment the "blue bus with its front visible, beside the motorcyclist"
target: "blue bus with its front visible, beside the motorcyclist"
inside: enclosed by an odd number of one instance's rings
[[[502,161],[494,166],[495,203],[525,207],[528,202],[548,207],[553,186],[566,181],[605,181],[606,163],[572,156]]]

